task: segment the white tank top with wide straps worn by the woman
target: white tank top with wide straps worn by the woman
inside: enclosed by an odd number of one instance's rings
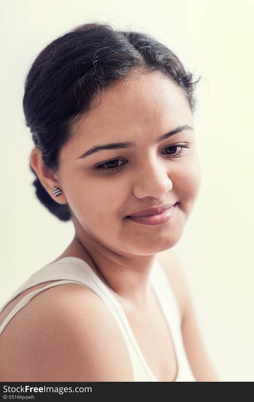
[[[109,291],[106,285],[104,285],[93,269],[91,269],[91,267],[81,258],[65,257],[55,263],[45,265],[36,271],[20,287],[18,287],[18,289],[16,289],[12,296],[0,308],[0,313],[7,304],[22,291],[39,283],[54,280],[56,282],[28,293],[18,302],[18,304],[16,304],[13,310],[2,322],[2,325],[0,325],[0,335],[12,317],[26,306],[26,304],[38,293],[45,289],[49,289],[49,287],[62,285],[64,283],[79,283],[100,296],[116,318],[128,347],[134,381],[158,381],[144,359],[121,304]],[[181,315],[177,299],[175,298],[175,294],[164,269],[156,258],[154,259],[148,280],[152,285],[156,298],[158,299],[158,303],[168,324],[169,334],[173,341],[178,365],[178,374],[175,381],[196,381],[191,371],[183,345]]]

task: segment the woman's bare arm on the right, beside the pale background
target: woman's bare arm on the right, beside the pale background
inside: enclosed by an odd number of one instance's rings
[[[174,250],[170,250],[170,264],[163,264],[181,309],[183,343],[196,381],[219,381],[211,364],[195,317],[191,294]]]

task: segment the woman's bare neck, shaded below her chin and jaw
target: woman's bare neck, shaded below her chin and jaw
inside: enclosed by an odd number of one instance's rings
[[[122,255],[90,236],[75,236],[68,247],[73,256],[85,260],[122,304],[145,308],[148,300],[148,276],[154,255]]]

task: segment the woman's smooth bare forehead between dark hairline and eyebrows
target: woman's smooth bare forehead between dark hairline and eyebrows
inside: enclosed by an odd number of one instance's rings
[[[183,89],[159,72],[126,77],[101,91],[100,103],[95,96],[90,105],[89,113],[72,127],[71,143],[77,148],[88,149],[102,140],[157,136],[179,125],[193,125]]]

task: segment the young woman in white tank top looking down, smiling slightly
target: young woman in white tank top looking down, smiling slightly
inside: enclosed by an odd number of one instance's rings
[[[156,39],[107,24],[36,58],[33,185],[75,236],[2,306],[1,381],[219,381],[172,250],[201,183],[192,78]]]

